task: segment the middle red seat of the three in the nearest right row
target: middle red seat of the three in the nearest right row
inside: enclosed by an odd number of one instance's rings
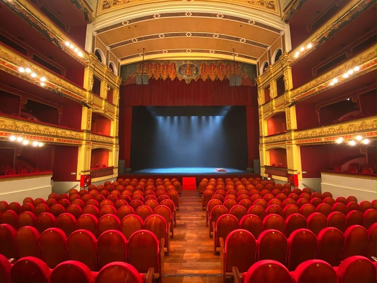
[[[295,283],[338,283],[334,268],[323,260],[308,260],[293,272]]]

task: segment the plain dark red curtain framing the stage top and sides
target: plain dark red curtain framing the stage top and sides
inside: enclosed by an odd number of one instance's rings
[[[229,80],[191,81],[149,80],[148,85],[126,85],[120,89],[119,159],[129,168],[132,106],[227,106],[245,105],[247,110],[248,163],[259,159],[257,89],[229,86]]]

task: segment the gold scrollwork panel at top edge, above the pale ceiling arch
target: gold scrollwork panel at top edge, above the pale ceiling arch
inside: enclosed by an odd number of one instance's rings
[[[192,0],[185,0],[185,2],[191,2]],[[140,3],[147,2],[146,0],[98,0],[97,3],[97,16],[106,14],[108,12],[118,11],[120,9],[129,8],[139,5]],[[160,3],[161,1],[158,1]],[[169,2],[169,1],[164,1]],[[181,1],[182,2],[182,1]],[[233,2],[232,5],[236,6],[251,6],[250,8],[256,8],[269,14],[280,15],[280,7],[278,0],[227,0],[227,2]],[[147,4],[153,4],[156,1],[150,1]],[[218,2],[221,4],[221,2]],[[128,7],[124,7],[127,6]]]

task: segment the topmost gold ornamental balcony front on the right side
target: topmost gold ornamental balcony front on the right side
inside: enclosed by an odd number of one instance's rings
[[[352,0],[343,9],[341,9],[337,14],[331,17],[325,24],[323,24],[316,32],[310,35],[302,44],[297,46],[289,52],[287,62],[293,65],[298,60],[301,60],[310,52],[313,52],[319,45],[325,42],[325,39],[331,37],[331,35],[337,30],[343,28],[345,24],[352,22],[353,18],[362,12],[365,8],[375,3],[374,0]],[[312,47],[307,49],[308,44]],[[300,48],[304,47],[305,50],[300,52]],[[296,52],[300,55],[295,57]]]

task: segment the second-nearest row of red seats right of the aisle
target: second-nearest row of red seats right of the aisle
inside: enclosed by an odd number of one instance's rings
[[[221,220],[221,219],[219,219]],[[225,226],[228,223],[228,226]],[[343,234],[328,227],[315,235],[308,229],[297,229],[288,237],[269,229],[256,238],[245,229],[238,229],[234,221],[218,221],[218,237],[224,272],[237,266],[242,272],[256,261],[279,261],[292,271],[302,261],[318,258],[332,266],[353,255],[376,256],[377,223],[368,231],[359,225],[349,227]],[[225,244],[224,244],[225,239]]]

